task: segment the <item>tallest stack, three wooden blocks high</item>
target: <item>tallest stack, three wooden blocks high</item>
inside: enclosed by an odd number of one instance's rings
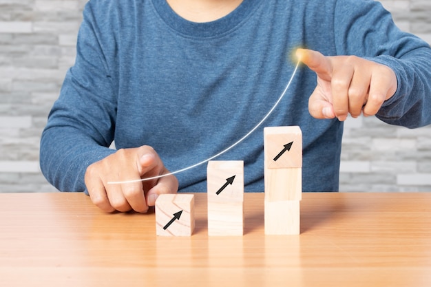
[[[264,128],[265,234],[299,234],[302,131]]]

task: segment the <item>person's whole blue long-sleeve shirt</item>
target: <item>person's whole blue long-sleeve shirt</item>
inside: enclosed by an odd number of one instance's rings
[[[41,169],[61,191],[85,190],[88,165],[117,148],[154,147],[176,171],[224,150],[273,107],[307,47],[388,65],[396,94],[377,117],[431,123],[431,49],[368,0],[244,0],[209,23],[179,17],[165,0],[90,0],[76,63],[41,138]],[[244,160],[246,191],[263,191],[263,127],[299,125],[303,190],[337,191],[343,123],[308,113],[315,73],[302,66],[280,105],[217,160]],[[177,174],[180,191],[206,191],[206,166]]]

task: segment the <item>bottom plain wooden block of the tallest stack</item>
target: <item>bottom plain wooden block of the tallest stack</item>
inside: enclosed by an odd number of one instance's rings
[[[265,234],[299,235],[299,200],[265,200]]]

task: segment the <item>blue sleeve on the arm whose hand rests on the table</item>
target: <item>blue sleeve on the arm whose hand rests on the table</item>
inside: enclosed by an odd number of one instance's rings
[[[94,21],[90,4],[78,32],[76,62],[41,136],[41,171],[60,191],[85,191],[87,167],[114,153],[109,145],[114,138],[116,94],[107,65],[109,49],[103,49],[101,37],[105,23]]]

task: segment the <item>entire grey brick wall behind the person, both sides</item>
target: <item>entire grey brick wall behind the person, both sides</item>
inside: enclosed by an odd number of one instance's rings
[[[55,191],[39,170],[39,140],[74,63],[86,0],[0,0],[0,192]],[[430,0],[384,0],[402,30],[431,43]],[[431,127],[349,118],[341,191],[431,191]]]

